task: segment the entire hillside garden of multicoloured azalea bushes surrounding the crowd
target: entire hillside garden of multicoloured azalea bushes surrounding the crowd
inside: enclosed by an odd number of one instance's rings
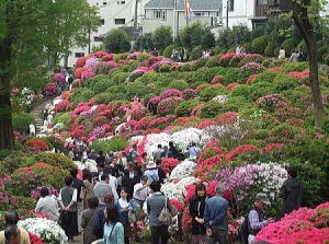
[[[191,240],[188,202],[200,181],[209,182],[209,195],[217,183],[225,185],[231,243],[259,191],[270,197],[266,212],[277,221],[263,228],[257,241],[329,243],[329,123],[314,126],[307,62],[235,53],[175,62],[147,53],[97,51],[79,58],[73,72],[71,91],[56,97],[57,86],[65,85],[60,73],[43,89],[44,96],[54,97],[49,108],[55,118],[37,138],[23,136],[34,119],[23,111],[39,95],[30,88],[12,90],[18,150],[1,154],[0,212],[16,209],[32,243],[67,242],[55,222],[33,209],[39,187],[50,185],[56,195],[75,165],[48,151],[67,153],[76,147],[73,140],[104,152],[128,151],[137,143],[139,155],[174,142],[185,156],[162,160],[167,179],[161,188],[178,211],[170,226],[173,243]],[[325,72],[320,89],[328,113]],[[192,142],[202,148],[196,159],[188,158]],[[305,207],[279,220],[277,194],[287,165],[297,169]],[[139,220],[137,226],[140,242],[148,243],[147,223]]]

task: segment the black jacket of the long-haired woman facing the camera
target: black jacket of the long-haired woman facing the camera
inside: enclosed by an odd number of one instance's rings
[[[205,225],[198,223],[195,217],[203,219],[204,208],[205,208],[205,197],[193,196],[190,200],[190,214],[192,217],[192,234],[193,235],[204,235],[206,233]]]

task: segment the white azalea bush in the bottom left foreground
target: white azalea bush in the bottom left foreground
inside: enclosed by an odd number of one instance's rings
[[[36,234],[46,243],[68,243],[68,237],[66,236],[64,230],[53,220],[44,218],[27,218],[25,220],[20,220],[18,225],[33,234]]]

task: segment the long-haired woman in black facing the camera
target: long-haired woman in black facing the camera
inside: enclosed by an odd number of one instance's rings
[[[195,194],[190,200],[189,210],[192,217],[192,244],[206,244],[207,236],[204,225],[204,208],[206,200],[206,187],[200,183],[195,186]]]

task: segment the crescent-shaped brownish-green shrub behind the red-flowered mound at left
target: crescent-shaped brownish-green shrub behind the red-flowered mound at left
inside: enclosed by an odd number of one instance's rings
[[[44,162],[52,166],[58,166],[64,170],[70,170],[72,166],[75,166],[73,161],[71,161],[66,155],[63,155],[60,153],[48,153],[48,152],[42,152],[26,158],[22,166],[27,167],[34,164],[35,162]]]

